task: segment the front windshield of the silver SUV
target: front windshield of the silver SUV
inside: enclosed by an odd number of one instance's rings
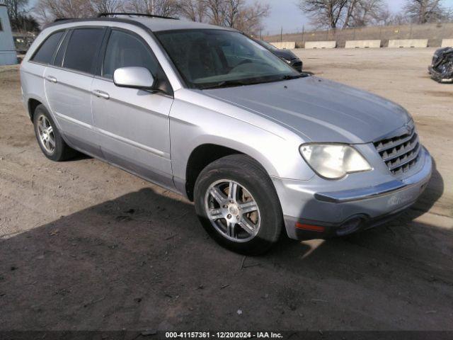
[[[172,30],[155,34],[185,82],[194,89],[302,77],[279,57],[238,32]]]

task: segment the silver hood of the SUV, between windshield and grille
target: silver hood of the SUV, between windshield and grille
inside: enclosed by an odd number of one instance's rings
[[[318,77],[203,93],[285,125],[305,142],[372,142],[411,120],[391,101]]]

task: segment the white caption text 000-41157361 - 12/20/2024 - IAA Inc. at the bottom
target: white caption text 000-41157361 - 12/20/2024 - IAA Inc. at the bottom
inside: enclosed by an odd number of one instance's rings
[[[167,331],[166,339],[282,339],[274,331]]]

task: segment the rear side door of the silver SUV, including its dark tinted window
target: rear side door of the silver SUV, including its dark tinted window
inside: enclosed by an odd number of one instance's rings
[[[105,30],[69,30],[44,74],[47,101],[64,136],[74,147],[98,157],[102,154],[93,129],[91,84]]]

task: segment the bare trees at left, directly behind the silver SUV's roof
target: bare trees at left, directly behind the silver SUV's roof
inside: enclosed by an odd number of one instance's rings
[[[256,34],[263,28],[263,18],[270,13],[268,4],[248,0],[38,0],[31,9],[28,8],[28,1],[3,0],[15,30],[32,30],[38,28],[38,23],[44,25],[57,18],[89,18],[98,13],[133,12],[181,16]],[[33,22],[33,25],[24,25],[25,21]]]

